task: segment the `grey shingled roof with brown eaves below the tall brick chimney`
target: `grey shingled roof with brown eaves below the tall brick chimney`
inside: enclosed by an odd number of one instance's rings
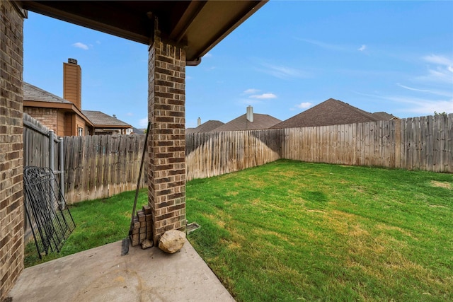
[[[73,111],[93,127],[93,123],[88,120],[88,117],[81,110],[76,108],[74,103],[27,82],[23,82],[23,107],[55,108]]]

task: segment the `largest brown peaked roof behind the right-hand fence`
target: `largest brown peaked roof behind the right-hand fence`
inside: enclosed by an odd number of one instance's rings
[[[372,115],[340,100],[329,98],[323,103],[276,124],[272,128],[317,127],[333,124],[377,122],[382,118]]]

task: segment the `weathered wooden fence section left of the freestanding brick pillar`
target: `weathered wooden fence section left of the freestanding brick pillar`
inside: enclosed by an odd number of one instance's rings
[[[135,190],[144,135],[64,137],[65,191],[68,203]],[[145,161],[144,168],[147,166]],[[144,169],[146,175],[146,169]],[[144,187],[142,177],[140,187]]]

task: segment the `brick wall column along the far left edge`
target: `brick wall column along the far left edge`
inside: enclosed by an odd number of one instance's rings
[[[23,270],[24,16],[0,1],[0,301]]]

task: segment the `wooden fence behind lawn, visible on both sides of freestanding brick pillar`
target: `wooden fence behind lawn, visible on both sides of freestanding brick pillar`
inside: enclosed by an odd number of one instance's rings
[[[453,173],[453,115],[292,129],[185,134],[186,179],[279,158]],[[64,137],[67,202],[137,185],[144,135]],[[147,161],[144,165],[147,175]],[[146,177],[140,183],[144,187]]]

